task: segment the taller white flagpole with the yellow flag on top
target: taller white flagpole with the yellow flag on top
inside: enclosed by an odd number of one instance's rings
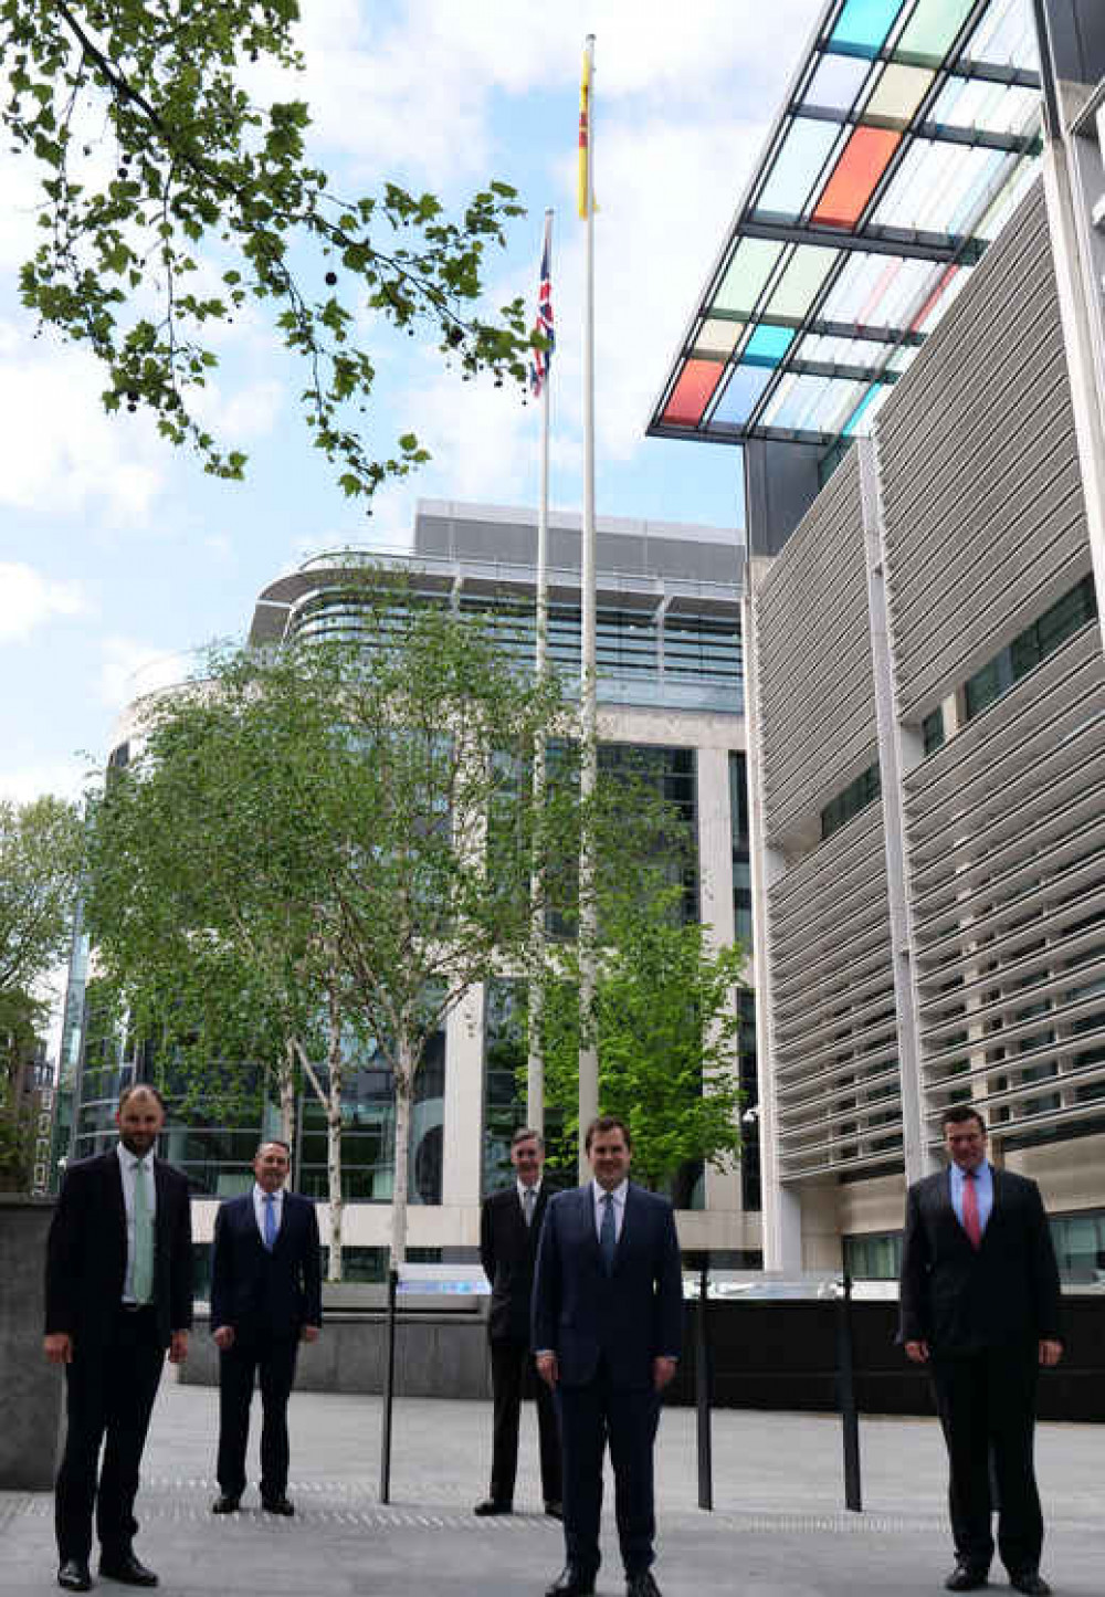
[[[584,45],[584,104],[580,107],[580,139],[586,136],[586,283],[583,311],[583,537],[580,549],[580,707],[583,719],[583,768],[580,798],[580,1180],[589,1175],[583,1135],[599,1113],[599,1054],[594,1038],[597,958],[597,907],[592,808],[599,784],[596,699],[596,535],[594,535],[594,34]],[[586,125],[583,121],[586,115]]]

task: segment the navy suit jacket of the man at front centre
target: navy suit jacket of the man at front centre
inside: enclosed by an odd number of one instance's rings
[[[557,1193],[538,1246],[532,1345],[556,1353],[560,1381],[583,1386],[605,1359],[615,1386],[652,1389],[652,1362],[679,1357],[682,1324],[679,1238],[667,1199],[629,1185],[608,1276],[591,1183]]]

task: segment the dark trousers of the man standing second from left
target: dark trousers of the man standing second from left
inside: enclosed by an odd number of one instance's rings
[[[235,1335],[232,1348],[219,1353],[219,1463],[216,1474],[227,1496],[246,1490],[246,1444],[254,1383],[260,1385],[260,1495],[262,1500],[287,1492],[287,1397],[295,1380],[299,1333],[273,1337],[268,1332]]]

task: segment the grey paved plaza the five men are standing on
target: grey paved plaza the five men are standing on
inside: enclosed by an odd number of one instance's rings
[[[163,1383],[137,1512],[139,1554],[169,1597],[538,1597],[562,1563],[540,1512],[532,1405],[522,1420],[517,1512],[476,1519],[490,1463],[490,1404],[401,1399],[391,1503],[378,1501],[380,1399],[292,1397],[294,1520],[212,1517],[216,1393]],[[255,1437],[251,1455],[255,1460]],[[664,1413],[656,1448],[664,1597],[923,1597],[950,1568],[944,1450],[934,1421],[864,1420],[864,1512],[843,1509],[840,1423],[725,1410],[714,1417],[714,1512],[698,1508],[695,1417]],[[1057,1597],[1105,1589],[1105,1429],[1044,1425],[1044,1570]],[[255,1471],[255,1464],[252,1464]],[[607,1484],[599,1594],[624,1591]],[[56,1591],[53,1498],[0,1493],[0,1594]],[[1006,1589],[995,1568],[995,1586]],[[104,1592],[121,1592],[99,1583]]]

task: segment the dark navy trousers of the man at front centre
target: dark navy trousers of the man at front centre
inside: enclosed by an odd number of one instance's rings
[[[652,1567],[656,1540],[653,1444],[659,1394],[615,1386],[605,1361],[584,1386],[557,1386],[564,1439],[564,1544],[570,1563],[596,1575],[600,1562],[602,1453],[610,1442],[618,1546],[626,1579]]]

